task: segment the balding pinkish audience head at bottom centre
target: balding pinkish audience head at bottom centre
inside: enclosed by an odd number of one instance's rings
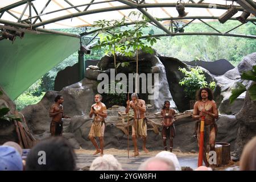
[[[175,171],[175,166],[170,159],[153,157],[143,162],[138,171]]]

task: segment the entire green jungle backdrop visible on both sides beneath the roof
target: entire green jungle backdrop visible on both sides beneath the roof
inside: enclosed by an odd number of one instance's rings
[[[217,28],[221,32],[230,30],[233,27],[241,24],[240,22],[229,20],[225,24],[218,22],[209,22],[210,26]],[[129,27],[122,27],[123,30]],[[79,27],[61,29],[73,34],[80,34],[86,29],[92,30],[92,27]],[[193,23],[184,28],[184,32],[212,32],[212,28],[203,23]],[[147,27],[143,29],[144,34],[162,34],[163,31],[156,27]],[[233,34],[250,34],[256,35],[256,26],[253,23],[246,23],[243,26],[233,30]],[[203,60],[216,61],[226,59],[234,66],[238,65],[243,56],[256,52],[256,40],[246,38],[236,38],[230,36],[165,36],[158,40],[153,48],[164,56],[175,57],[181,61]],[[85,55],[87,59],[101,59],[105,55],[104,49],[92,49],[90,55]],[[54,81],[57,72],[65,67],[72,66],[78,61],[78,53],[74,52],[67,59],[57,64],[49,72],[43,75],[38,81],[30,86],[23,94],[14,101],[17,109],[22,110],[27,105],[36,104],[39,102],[44,93],[48,90],[53,90]]]

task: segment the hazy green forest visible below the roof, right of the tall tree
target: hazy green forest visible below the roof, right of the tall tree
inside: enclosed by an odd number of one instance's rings
[[[210,26],[221,32],[226,32],[241,24],[235,20],[228,20],[225,24],[208,22]],[[152,27],[155,34],[163,34],[163,31]],[[150,31],[147,28],[145,31]],[[184,32],[213,32],[212,28],[204,23],[191,23],[184,28]],[[256,35],[256,27],[253,23],[246,23],[230,32],[231,34]],[[242,60],[243,56],[256,52],[255,39],[236,38],[229,36],[165,36],[154,44],[158,53],[165,56],[176,57],[182,61],[192,61],[198,57],[204,61],[226,59],[234,66]]]

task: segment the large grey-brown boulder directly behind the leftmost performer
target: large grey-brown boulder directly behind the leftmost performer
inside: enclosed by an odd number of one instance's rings
[[[35,134],[37,139],[49,137],[49,126],[51,122],[49,107],[54,103],[57,94],[61,94],[64,97],[64,113],[71,118],[76,115],[89,113],[90,107],[94,103],[96,86],[96,81],[84,78],[81,82],[67,86],[60,92],[48,91],[38,104],[25,107],[21,113],[23,113],[26,118],[32,134]],[[70,119],[64,119],[64,136],[67,135],[65,133],[70,133],[71,130],[69,128],[71,121],[69,120]],[[77,142],[75,139],[72,139],[73,135],[68,134],[67,136],[69,136],[68,140],[72,140],[73,146],[77,147]],[[75,137],[75,135],[73,137]]]

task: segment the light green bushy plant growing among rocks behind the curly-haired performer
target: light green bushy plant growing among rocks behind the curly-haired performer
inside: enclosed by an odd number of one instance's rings
[[[196,92],[200,88],[209,86],[211,89],[214,89],[216,86],[215,82],[207,84],[203,70],[199,67],[189,68],[189,71],[185,68],[179,68],[179,71],[184,75],[179,84],[184,86],[184,92],[191,100],[195,100]]]

